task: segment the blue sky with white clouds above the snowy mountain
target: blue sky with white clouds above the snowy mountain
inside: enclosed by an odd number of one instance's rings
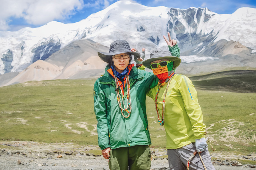
[[[118,0],[0,0],[0,31],[39,27],[51,21],[75,23],[107,8]],[[120,0],[127,1],[127,0]],[[241,7],[256,8],[256,0],[128,0],[145,6],[187,9],[207,7],[218,14],[231,14]]]

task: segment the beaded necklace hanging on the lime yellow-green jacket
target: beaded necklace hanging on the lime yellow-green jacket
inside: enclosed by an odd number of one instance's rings
[[[164,115],[165,115],[165,97],[166,97],[167,90],[168,90],[168,88],[169,88],[169,84],[170,84],[170,82],[171,82],[172,77],[173,77],[173,75],[174,75],[174,74],[175,74],[175,73],[172,73],[172,74],[170,75],[170,79],[169,79],[169,81],[168,81],[168,84],[167,84],[166,89],[165,89],[165,92],[164,92],[164,99],[163,99],[163,111],[162,111],[162,120],[160,120],[160,118],[159,118],[159,112],[158,112],[157,102],[156,102],[156,100],[157,100],[157,96],[158,96],[158,93],[159,93],[159,91],[160,91],[160,89],[161,89],[161,84],[160,84],[160,83],[158,83],[158,90],[157,90],[157,92],[156,92],[156,98],[155,98],[155,108],[156,108],[156,116],[157,116],[157,119],[158,119],[158,123],[159,123],[161,126],[163,126],[163,125],[164,125]]]

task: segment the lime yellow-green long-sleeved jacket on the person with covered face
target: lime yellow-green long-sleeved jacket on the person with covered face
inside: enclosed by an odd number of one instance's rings
[[[157,103],[162,119],[163,98],[167,83],[161,87]],[[158,86],[151,88],[147,95],[154,99]],[[174,74],[165,97],[166,149],[177,149],[204,137],[205,125],[197,92],[191,80]]]

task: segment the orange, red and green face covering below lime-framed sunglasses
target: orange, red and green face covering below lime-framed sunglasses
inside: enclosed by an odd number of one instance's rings
[[[172,71],[173,62],[170,62],[167,66],[161,67],[160,65],[152,69],[153,73],[158,77],[159,83],[163,83],[168,77],[168,71]]]

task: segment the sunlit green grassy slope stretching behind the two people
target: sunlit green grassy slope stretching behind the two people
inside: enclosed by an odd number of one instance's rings
[[[95,79],[30,81],[0,87],[0,140],[97,145],[94,82]],[[255,93],[197,92],[214,147],[243,155],[255,152]],[[152,147],[164,147],[164,128],[156,123],[150,98],[147,114]]]

